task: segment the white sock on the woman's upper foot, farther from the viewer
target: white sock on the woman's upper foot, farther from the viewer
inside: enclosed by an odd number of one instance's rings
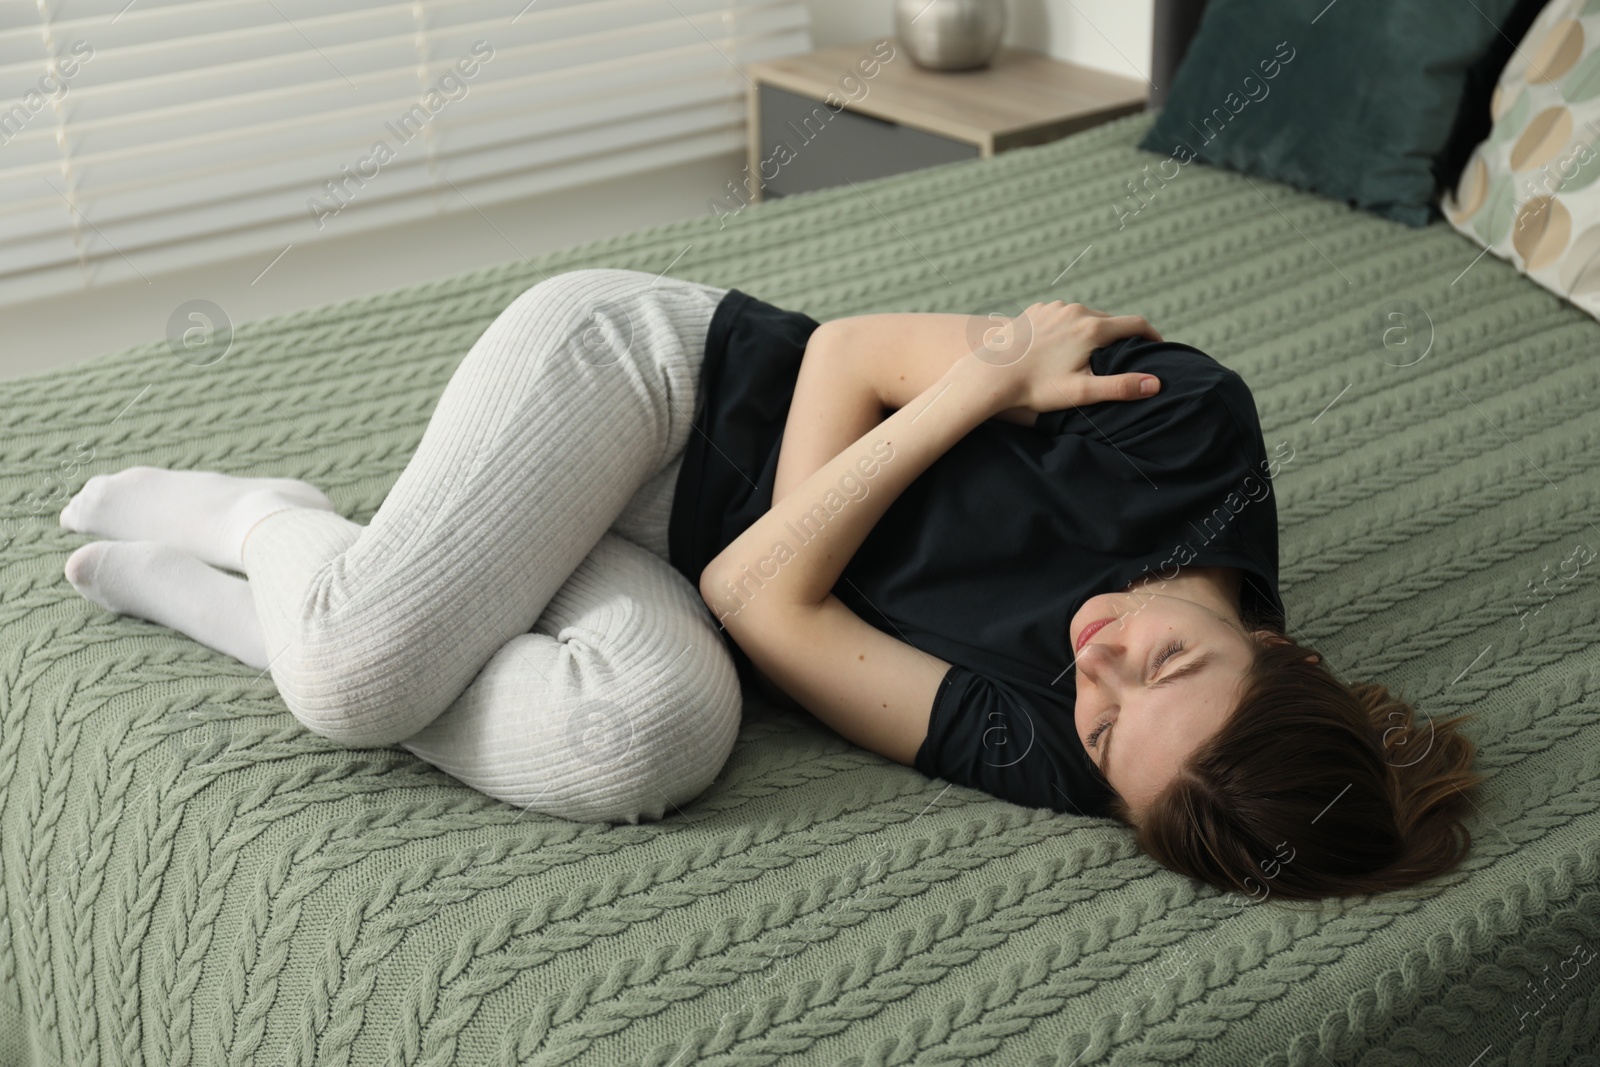
[[[160,541],[211,566],[243,571],[245,534],[290,507],[333,510],[299,478],[126,467],[98,474],[61,509],[61,525],[114,541]]]

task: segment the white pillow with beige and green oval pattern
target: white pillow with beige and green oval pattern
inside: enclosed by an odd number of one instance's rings
[[[1445,218],[1600,318],[1600,0],[1550,0],[1501,72]]]

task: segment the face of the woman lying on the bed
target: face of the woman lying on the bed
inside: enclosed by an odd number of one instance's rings
[[[1141,589],[1090,597],[1072,617],[1078,737],[1134,813],[1238,702],[1254,645],[1224,609],[1203,592]]]

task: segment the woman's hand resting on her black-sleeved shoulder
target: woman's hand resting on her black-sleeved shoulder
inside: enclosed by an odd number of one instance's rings
[[[1162,334],[1139,315],[1107,315],[1082,304],[1032,304],[1019,317],[997,322],[973,347],[981,373],[1006,408],[1059,411],[1102,400],[1141,400],[1160,389],[1154,374],[1096,374],[1090,354],[1120,338]],[[1141,387],[1150,382],[1149,392]]]

